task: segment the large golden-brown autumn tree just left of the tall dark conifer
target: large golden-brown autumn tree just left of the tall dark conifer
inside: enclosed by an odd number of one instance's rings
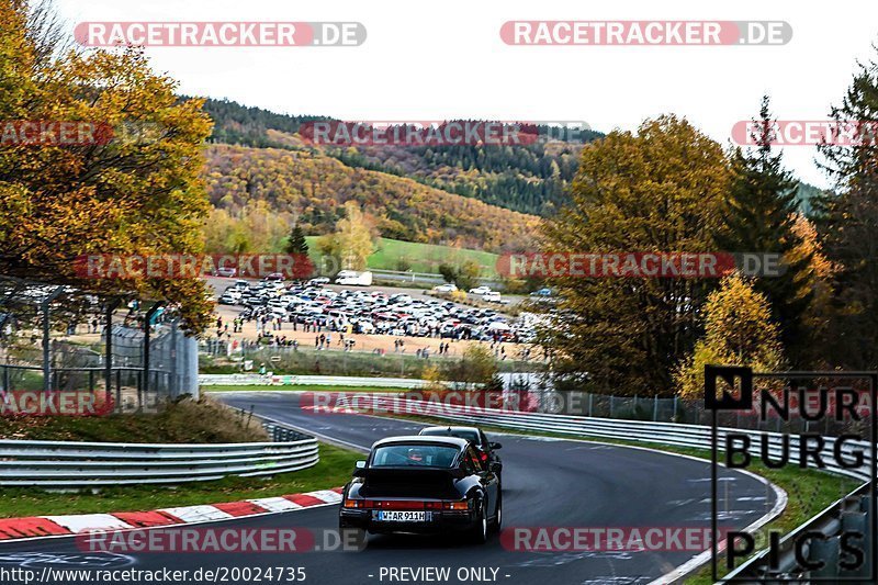
[[[587,145],[570,203],[545,222],[545,250],[716,249],[730,171],[719,144],[673,115]],[[673,392],[673,372],[700,334],[711,279],[553,278],[540,341],[556,375],[615,394]]]

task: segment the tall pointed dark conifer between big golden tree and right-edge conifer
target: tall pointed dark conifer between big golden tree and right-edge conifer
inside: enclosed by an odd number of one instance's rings
[[[793,364],[812,339],[803,315],[813,299],[811,263],[801,251],[795,224],[798,217],[798,181],[784,168],[783,153],[776,142],[775,121],[769,100],[764,97],[759,116],[754,121],[752,149],[732,153],[733,178],[725,200],[725,229],[719,244],[728,251],[778,254],[780,274],[759,278],[753,286],[764,294],[772,307],[772,319],[780,328],[780,338]]]

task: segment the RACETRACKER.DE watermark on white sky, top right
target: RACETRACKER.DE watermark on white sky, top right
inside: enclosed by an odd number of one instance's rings
[[[507,45],[786,45],[786,21],[507,21]]]

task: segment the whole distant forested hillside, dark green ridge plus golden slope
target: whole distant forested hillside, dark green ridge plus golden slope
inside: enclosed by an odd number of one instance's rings
[[[284,217],[297,217],[308,234],[331,229],[340,205],[356,199],[378,218],[384,237],[492,251],[526,247],[528,238],[519,236],[532,233],[533,215],[551,217],[563,205],[583,147],[560,140],[515,147],[314,146],[299,135],[302,124],[330,117],[226,100],[207,100],[204,110],[214,121],[214,205],[234,212],[250,199],[262,200]],[[579,136],[587,142],[603,134]],[[818,192],[801,183],[797,200],[804,213]]]

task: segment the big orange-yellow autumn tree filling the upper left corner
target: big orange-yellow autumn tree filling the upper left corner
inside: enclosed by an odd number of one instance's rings
[[[75,271],[82,255],[203,249],[211,122],[202,102],[180,101],[139,50],[59,53],[45,23],[25,2],[0,0],[0,117],[105,125],[112,139],[0,149],[0,272],[164,300],[202,330],[212,302],[199,279],[111,282]]]

